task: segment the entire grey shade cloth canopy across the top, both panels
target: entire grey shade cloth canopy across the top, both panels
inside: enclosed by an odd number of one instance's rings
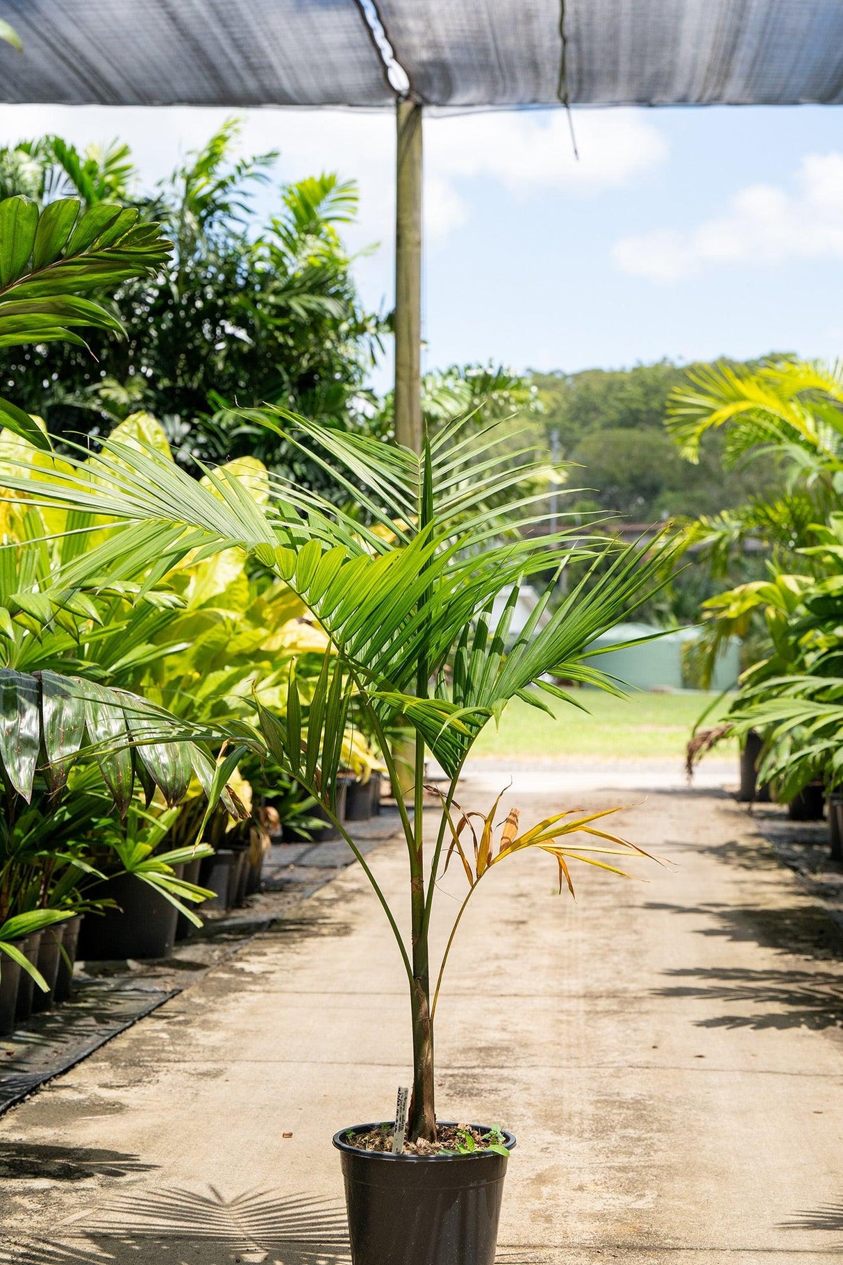
[[[428,105],[843,100],[842,0],[0,0],[0,100],[388,106],[373,8]]]

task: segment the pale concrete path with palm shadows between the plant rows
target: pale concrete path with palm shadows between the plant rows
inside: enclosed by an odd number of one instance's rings
[[[464,799],[488,802],[494,772]],[[825,913],[715,792],[575,799],[552,774],[514,792],[535,818],[638,801],[627,835],[671,865],[646,884],[580,873],[573,903],[551,858],[513,859],[466,916],[439,1112],[518,1135],[500,1265],[843,1260]],[[401,892],[401,848],[372,859]],[[406,989],[359,870],[305,908],[5,1117],[4,1265],[348,1261],[330,1137],[389,1116]]]

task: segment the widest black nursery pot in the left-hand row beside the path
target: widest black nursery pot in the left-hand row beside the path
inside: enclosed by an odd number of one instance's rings
[[[174,865],[173,870],[181,878],[182,867]],[[169,956],[178,910],[149,883],[134,874],[119,874],[91,896],[110,897],[118,908],[85,916],[78,942],[83,961]]]

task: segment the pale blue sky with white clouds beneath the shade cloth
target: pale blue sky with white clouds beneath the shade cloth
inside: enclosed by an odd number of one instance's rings
[[[152,183],[230,111],[0,106],[5,143],[120,135]],[[360,181],[365,299],[392,293],[389,115],[254,110],[243,149],[279,177]],[[618,367],[662,355],[843,350],[843,115],[834,108],[431,118],[426,367]],[[272,195],[267,195],[269,199]],[[383,385],[388,366],[378,374]]]

